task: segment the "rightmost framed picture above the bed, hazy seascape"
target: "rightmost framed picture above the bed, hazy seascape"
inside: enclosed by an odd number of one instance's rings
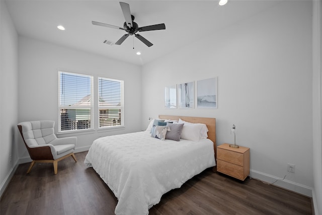
[[[197,81],[197,108],[217,108],[217,77]]]

